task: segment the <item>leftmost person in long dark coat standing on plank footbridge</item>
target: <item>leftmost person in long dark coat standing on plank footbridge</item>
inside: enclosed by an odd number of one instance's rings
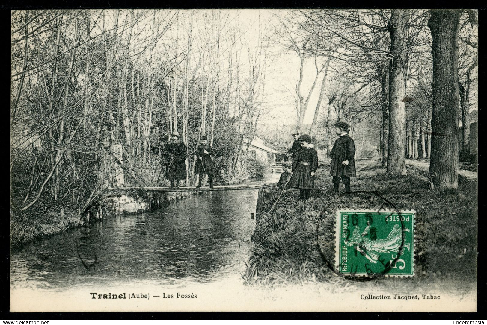
[[[186,178],[186,144],[179,139],[179,132],[172,132],[171,141],[167,145],[166,178],[171,182],[170,187],[179,187],[179,181]]]

